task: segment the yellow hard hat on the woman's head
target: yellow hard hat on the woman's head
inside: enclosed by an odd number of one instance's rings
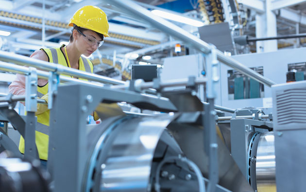
[[[87,5],[76,11],[70,19],[69,26],[73,27],[73,24],[109,37],[107,16],[97,6]]]

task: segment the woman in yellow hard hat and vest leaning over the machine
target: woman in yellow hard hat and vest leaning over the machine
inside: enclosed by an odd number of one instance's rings
[[[41,48],[36,50],[31,57],[92,73],[93,64],[81,55],[88,57],[102,46],[104,37],[109,37],[107,17],[99,7],[84,6],[75,12],[70,19],[69,26],[73,29],[67,46]],[[9,92],[14,95],[25,95],[25,77],[17,74],[16,80],[9,86]],[[38,97],[48,102],[48,80],[38,80],[37,92]],[[37,116],[35,142],[41,164],[46,167],[50,110],[47,105],[38,104],[35,114]],[[24,153],[24,139],[22,137],[19,142],[19,150]]]

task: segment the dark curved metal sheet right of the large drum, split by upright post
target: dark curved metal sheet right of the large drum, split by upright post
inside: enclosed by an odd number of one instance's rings
[[[198,165],[204,177],[208,177],[208,156],[204,152],[202,127],[171,123],[167,127],[189,160]],[[219,185],[233,192],[254,192],[230,155],[227,146],[218,137]]]

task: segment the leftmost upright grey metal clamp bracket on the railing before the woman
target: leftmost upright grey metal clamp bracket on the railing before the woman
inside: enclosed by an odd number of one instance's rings
[[[37,71],[29,67],[30,74],[26,76],[26,97],[25,105],[27,112],[37,111]]]

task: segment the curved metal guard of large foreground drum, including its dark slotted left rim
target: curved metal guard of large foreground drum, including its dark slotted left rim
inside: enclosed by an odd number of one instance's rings
[[[146,192],[150,188],[156,145],[165,128],[176,116],[117,117],[117,120],[107,119],[106,126],[104,124],[93,129],[93,133],[97,134],[99,129],[102,133],[98,144],[94,146],[101,150],[95,162],[89,161],[94,163],[88,166],[95,167],[95,173],[88,175],[93,181],[87,182],[86,191]]]

